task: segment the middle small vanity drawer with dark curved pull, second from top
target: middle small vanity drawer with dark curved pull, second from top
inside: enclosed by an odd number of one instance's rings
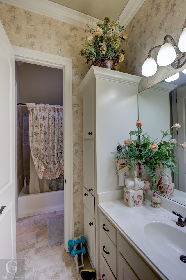
[[[100,230],[100,253],[103,254],[113,274],[117,277],[117,247],[102,228]]]

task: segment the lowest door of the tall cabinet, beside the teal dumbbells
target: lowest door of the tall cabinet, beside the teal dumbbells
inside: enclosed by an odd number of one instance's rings
[[[96,266],[96,238],[95,238],[95,219],[90,215],[89,211],[84,205],[84,235],[86,238],[86,245],[88,254],[92,260],[94,267]]]

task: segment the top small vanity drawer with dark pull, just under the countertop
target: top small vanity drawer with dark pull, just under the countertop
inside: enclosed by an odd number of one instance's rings
[[[117,231],[114,226],[108,221],[108,219],[103,215],[100,214],[99,217],[100,228],[102,228],[105,233],[110,237],[112,242],[117,245]]]

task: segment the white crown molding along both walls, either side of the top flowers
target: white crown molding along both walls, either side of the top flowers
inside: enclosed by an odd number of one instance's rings
[[[120,24],[125,25],[126,27],[144,1],[145,0],[129,0],[126,7],[120,14]],[[89,20],[91,20],[94,27],[96,27],[96,22],[99,21],[99,19],[95,17],[90,17],[89,15],[85,15],[49,0],[3,0],[2,2],[40,15],[51,17],[55,20],[66,22],[83,29]]]

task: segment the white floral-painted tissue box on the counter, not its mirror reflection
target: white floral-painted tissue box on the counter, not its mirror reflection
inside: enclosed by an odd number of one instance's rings
[[[143,205],[143,190],[133,190],[123,188],[124,201],[129,207],[138,207]]]

